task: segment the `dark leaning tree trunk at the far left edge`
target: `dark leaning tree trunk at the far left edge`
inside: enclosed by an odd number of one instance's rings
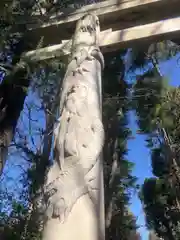
[[[8,147],[13,139],[14,131],[29,86],[28,66],[20,61],[23,51],[29,49],[24,37],[21,38],[14,51],[12,70],[0,84],[0,175],[2,174]]]

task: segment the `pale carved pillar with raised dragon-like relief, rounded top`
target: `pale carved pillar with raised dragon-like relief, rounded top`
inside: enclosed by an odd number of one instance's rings
[[[76,26],[64,77],[54,164],[44,187],[43,240],[103,240],[104,191],[101,152],[99,20],[87,14]]]

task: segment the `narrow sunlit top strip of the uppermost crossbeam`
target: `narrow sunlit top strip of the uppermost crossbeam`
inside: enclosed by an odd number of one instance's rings
[[[114,15],[117,12],[118,14],[122,14],[124,11],[126,11],[126,14],[129,14],[134,9],[138,10],[139,12],[141,11],[141,8],[143,8],[144,10],[144,7],[148,8],[149,11],[157,7],[161,7],[163,11],[163,7],[165,7],[165,5],[166,7],[170,6],[169,2],[169,0],[108,0],[99,3],[89,4],[77,10],[64,9],[64,11],[57,11],[56,14],[50,14],[49,16],[47,15],[45,17],[36,14],[32,18],[32,22],[36,23],[30,23],[29,28],[37,29],[52,27],[53,25],[64,25],[65,23],[78,20],[87,12],[94,13],[98,15],[99,18],[105,18],[107,14]],[[171,5],[175,3],[178,3],[178,0],[171,0]],[[44,20],[46,20],[45,23]]]

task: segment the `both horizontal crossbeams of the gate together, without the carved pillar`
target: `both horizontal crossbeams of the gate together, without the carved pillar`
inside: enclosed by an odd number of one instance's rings
[[[70,13],[66,9],[46,16],[44,20],[43,16],[36,15],[27,25],[28,35],[37,41],[43,38],[43,47],[24,56],[41,61],[69,54],[67,39],[71,38],[76,21],[87,12],[98,15],[100,19],[102,52],[142,44],[145,40],[174,38],[180,32],[179,9],[179,0],[109,0]]]

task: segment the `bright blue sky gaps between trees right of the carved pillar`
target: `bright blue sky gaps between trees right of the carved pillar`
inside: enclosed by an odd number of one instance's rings
[[[161,73],[169,78],[170,84],[173,86],[180,85],[179,58],[180,54],[171,60],[160,64]],[[142,184],[145,178],[152,176],[150,154],[145,146],[146,136],[136,134],[136,118],[132,112],[129,114],[129,126],[132,129],[135,139],[128,141],[128,159],[135,163],[133,174],[138,177],[138,183]],[[137,216],[137,224],[140,225],[139,232],[141,233],[142,240],[148,240],[148,231],[145,227],[144,213],[137,194],[132,197],[130,209]]]

